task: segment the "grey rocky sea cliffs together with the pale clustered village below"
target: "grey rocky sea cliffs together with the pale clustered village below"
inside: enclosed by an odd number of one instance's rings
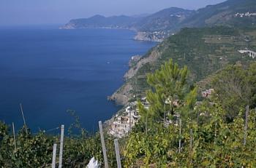
[[[115,115],[104,122],[105,131],[108,132],[109,135],[124,137],[132,127],[135,126],[138,119],[140,119],[137,108],[138,99],[140,99],[145,108],[149,107],[145,95],[133,93],[132,78],[143,65],[146,63],[154,63],[160,55],[160,52],[153,50],[144,57],[135,55],[129,60],[129,70],[124,74],[124,84],[122,84],[113,95],[108,96],[108,100],[114,101],[116,105],[123,106]]]

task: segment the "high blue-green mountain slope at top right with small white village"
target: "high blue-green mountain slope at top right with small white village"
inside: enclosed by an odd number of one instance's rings
[[[184,20],[179,28],[214,25],[248,26],[256,24],[255,0],[228,0],[198,9]]]

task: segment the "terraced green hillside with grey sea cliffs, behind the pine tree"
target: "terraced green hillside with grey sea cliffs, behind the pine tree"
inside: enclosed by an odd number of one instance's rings
[[[154,72],[170,58],[180,66],[188,65],[192,81],[200,81],[227,64],[253,60],[238,49],[256,49],[255,28],[184,28],[165,39],[129,69],[127,81],[113,95],[117,103],[126,104],[134,95],[143,95],[148,85],[146,73]]]

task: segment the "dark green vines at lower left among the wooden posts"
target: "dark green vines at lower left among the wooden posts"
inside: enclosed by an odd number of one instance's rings
[[[72,115],[75,115],[72,112]],[[77,116],[75,116],[77,117]],[[72,134],[72,130],[79,130],[79,135]],[[64,138],[63,167],[85,167],[94,156],[102,162],[102,147],[99,134],[88,135],[80,128],[76,118],[74,124],[69,127],[69,136]],[[57,143],[59,151],[59,135],[46,135],[39,132],[32,135],[29,131],[21,129],[15,140],[7,124],[0,122],[0,167],[51,167],[53,155],[53,143]],[[110,167],[116,167],[113,137],[105,137],[108,146],[108,159]],[[57,165],[59,153],[57,153]]]

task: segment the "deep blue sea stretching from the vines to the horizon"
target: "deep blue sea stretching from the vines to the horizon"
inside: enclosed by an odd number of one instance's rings
[[[132,55],[156,45],[134,41],[127,30],[59,30],[57,27],[0,29],[0,120],[32,132],[74,121],[95,131],[118,106],[107,100],[123,83]]]

